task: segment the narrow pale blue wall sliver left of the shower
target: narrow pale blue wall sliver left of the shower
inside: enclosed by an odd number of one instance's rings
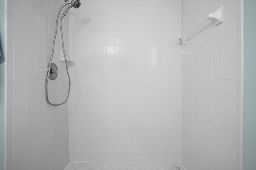
[[[4,170],[4,2],[0,0],[0,170]]]

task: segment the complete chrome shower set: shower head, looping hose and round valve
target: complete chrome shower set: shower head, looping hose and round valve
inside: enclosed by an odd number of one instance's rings
[[[56,28],[55,28],[55,34],[54,34],[54,38],[53,38],[53,43],[52,43],[52,54],[50,57],[50,61],[49,61],[49,66],[47,69],[47,77],[46,77],[46,82],[45,82],[45,93],[46,93],[46,101],[52,105],[52,106],[60,106],[63,105],[64,103],[66,103],[68,101],[68,97],[69,97],[69,93],[70,93],[70,76],[68,73],[68,62],[67,62],[67,57],[66,57],[66,53],[65,53],[65,49],[64,49],[64,40],[63,40],[63,32],[62,32],[62,19],[64,18],[64,16],[66,16],[66,14],[68,13],[68,11],[70,10],[70,8],[74,7],[74,8],[79,8],[81,5],[80,0],[72,0],[71,2],[69,2],[68,0],[64,0],[65,3],[60,7],[60,10],[58,12],[57,15],[57,19],[56,19]],[[68,95],[66,97],[66,100],[62,103],[59,104],[53,104],[49,101],[48,98],[48,81],[50,80],[55,80],[58,77],[58,67],[56,64],[52,63],[52,57],[54,54],[54,47],[55,47],[55,40],[56,40],[56,35],[57,35],[57,30],[58,30],[58,20],[60,17],[60,12],[62,11],[63,7],[68,5],[68,7],[66,8],[66,10],[64,11],[64,13],[62,14],[61,18],[60,18],[60,33],[61,33],[61,40],[62,40],[62,50],[63,50],[63,54],[64,54],[64,58],[65,58],[65,63],[66,63],[66,71],[67,71],[67,75],[68,75]]]

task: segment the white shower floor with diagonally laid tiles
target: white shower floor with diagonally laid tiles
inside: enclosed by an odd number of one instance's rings
[[[65,170],[186,170],[180,162],[73,162]]]

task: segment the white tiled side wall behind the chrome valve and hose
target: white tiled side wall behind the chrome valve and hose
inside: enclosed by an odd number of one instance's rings
[[[6,0],[6,170],[63,170],[70,161],[68,105],[50,107],[45,100],[46,67],[62,4],[62,0]],[[68,18],[64,20],[68,41]],[[66,97],[62,91],[68,80],[59,61],[59,39],[53,61],[60,74],[49,83],[54,102]]]

